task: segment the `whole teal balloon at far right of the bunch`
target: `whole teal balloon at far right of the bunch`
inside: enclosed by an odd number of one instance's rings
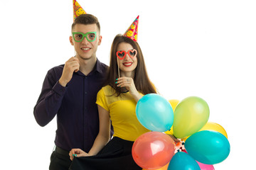
[[[230,143],[220,132],[203,130],[196,132],[185,142],[188,154],[203,164],[223,162],[230,153]]]

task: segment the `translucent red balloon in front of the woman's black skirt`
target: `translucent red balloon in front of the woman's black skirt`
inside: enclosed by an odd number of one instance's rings
[[[132,146],[134,162],[144,169],[159,169],[174,156],[174,140],[163,132],[146,132]]]

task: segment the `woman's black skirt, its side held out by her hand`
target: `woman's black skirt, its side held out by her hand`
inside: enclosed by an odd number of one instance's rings
[[[132,158],[133,143],[113,137],[97,155],[75,157],[70,170],[142,170]]]

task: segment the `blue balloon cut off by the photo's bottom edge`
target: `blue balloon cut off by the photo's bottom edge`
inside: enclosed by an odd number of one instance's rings
[[[177,152],[172,157],[167,170],[200,170],[200,166],[185,152]]]

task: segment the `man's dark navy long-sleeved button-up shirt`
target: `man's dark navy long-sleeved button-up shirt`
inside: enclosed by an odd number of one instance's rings
[[[39,125],[47,125],[57,115],[55,145],[66,150],[80,148],[89,152],[99,132],[97,92],[106,78],[107,65],[97,60],[85,76],[74,72],[67,86],[59,84],[63,65],[53,67],[43,81],[43,88],[34,107]]]

